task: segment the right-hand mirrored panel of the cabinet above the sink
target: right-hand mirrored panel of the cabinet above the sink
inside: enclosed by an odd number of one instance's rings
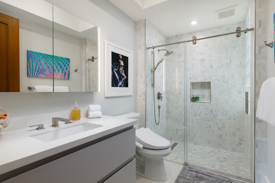
[[[69,59],[54,59],[54,92],[97,91],[96,26],[53,5],[53,54]]]

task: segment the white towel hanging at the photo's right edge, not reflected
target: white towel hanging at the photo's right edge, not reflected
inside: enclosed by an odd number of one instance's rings
[[[275,127],[275,77],[262,84],[256,117]]]

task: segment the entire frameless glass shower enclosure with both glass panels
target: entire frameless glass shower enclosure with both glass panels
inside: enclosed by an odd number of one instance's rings
[[[234,31],[146,45],[146,127],[171,142],[165,160],[253,181],[254,31],[215,37]]]

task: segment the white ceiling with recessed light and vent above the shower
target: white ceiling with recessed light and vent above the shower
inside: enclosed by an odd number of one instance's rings
[[[171,37],[245,20],[250,0],[109,0],[136,22],[147,20]],[[214,11],[238,5],[235,15],[215,19]],[[147,7],[149,6],[149,7]],[[143,8],[144,9],[143,9]],[[147,8],[146,8],[147,7]],[[197,20],[196,25],[190,22]],[[244,29],[246,27],[242,27]]]

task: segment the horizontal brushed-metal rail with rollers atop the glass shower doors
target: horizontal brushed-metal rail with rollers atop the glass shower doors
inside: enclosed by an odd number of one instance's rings
[[[239,29],[238,29],[239,28]],[[159,46],[152,46],[152,47],[147,47],[146,49],[154,49],[154,48],[158,48],[158,47],[162,47],[162,46],[168,46],[168,45],[175,45],[175,44],[180,44],[180,43],[185,43],[185,42],[193,42],[193,45],[196,44],[197,40],[202,40],[202,39],[208,39],[208,38],[215,38],[215,37],[219,37],[219,36],[225,36],[225,35],[229,35],[229,34],[237,34],[237,37],[240,37],[240,33],[244,32],[247,33],[248,31],[252,31],[254,30],[254,28],[247,28],[244,30],[241,30],[240,27],[237,27],[236,32],[228,32],[225,34],[218,34],[218,35],[214,35],[214,36],[208,36],[208,37],[204,37],[204,38],[196,38],[196,36],[193,36],[193,39],[187,40],[187,41],[177,41],[175,43],[169,43],[169,44],[165,44],[165,45],[159,45]]]

